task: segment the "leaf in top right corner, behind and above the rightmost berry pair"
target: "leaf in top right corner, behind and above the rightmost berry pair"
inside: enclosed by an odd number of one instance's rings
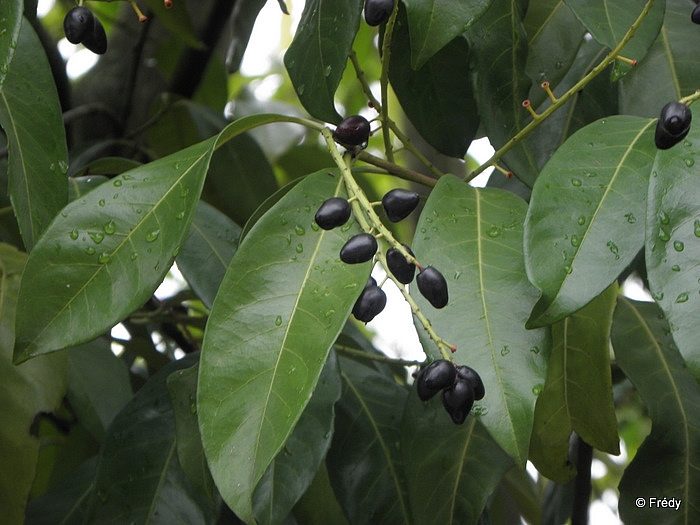
[[[695,53],[700,47],[700,32],[689,22],[693,4],[688,0],[665,3],[664,24],[656,42],[621,80],[620,106],[626,114],[657,117],[664,104],[690,95],[700,86]]]

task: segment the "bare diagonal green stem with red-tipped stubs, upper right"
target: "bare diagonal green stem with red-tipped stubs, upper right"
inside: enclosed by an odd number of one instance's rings
[[[564,104],[566,104],[571,97],[576,95],[579,91],[581,91],[588,83],[593,80],[595,77],[597,77],[600,73],[603,72],[603,70],[608,67],[608,65],[613,62],[620,54],[620,51],[622,51],[622,48],[627,45],[627,43],[630,41],[630,39],[634,36],[634,33],[637,31],[639,26],[641,25],[642,21],[644,18],[646,18],[647,14],[649,14],[649,11],[651,10],[651,7],[654,5],[654,0],[648,0],[648,2],[644,5],[644,9],[642,9],[642,12],[639,14],[637,19],[632,23],[630,28],[627,30],[627,33],[625,33],[625,36],[622,37],[622,40],[620,40],[620,43],[615,46],[615,48],[606,56],[597,66],[595,66],[586,76],[584,76],[581,80],[579,80],[576,84],[574,84],[566,93],[564,93],[561,97],[559,97],[555,102],[552,103],[551,106],[549,106],[546,110],[544,110],[542,113],[537,115],[527,126],[525,126],[523,129],[521,129],[516,135],[514,135],[506,144],[500,148],[498,151],[496,151],[493,156],[487,160],[485,163],[483,163],[481,166],[479,166],[477,169],[472,171],[465,179],[465,182],[469,182],[473,180],[477,175],[479,175],[481,172],[483,172],[486,168],[490,166],[494,166],[498,161],[505,155],[507,152],[509,152],[516,144],[518,144],[521,140],[523,140],[525,137],[527,137],[537,126],[542,124],[547,117],[549,117],[552,113],[554,113],[556,110],[558,110],[560,107],[562,107]]]

